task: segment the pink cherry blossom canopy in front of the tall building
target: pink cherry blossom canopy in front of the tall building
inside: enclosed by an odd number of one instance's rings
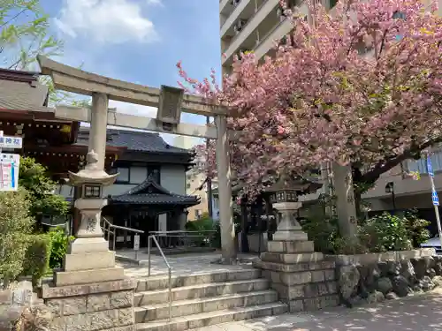
[[[282,4],[284,5],[284,4]],[[293,33],[276,56],[240,54],[217,86],[215,72],[187,89],[229,109],[231,162],[246,191],[282,170],[351,164],[370,187],[385,171],[442,141],[442,19],[437,2],[355,0],[333,12],[287,8]],[[213,148],[208,160],[215,164]],[[214,169],[210,169],[213,174]]]

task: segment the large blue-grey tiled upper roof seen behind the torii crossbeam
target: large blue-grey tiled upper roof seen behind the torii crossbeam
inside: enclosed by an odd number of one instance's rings
[[[77,139],[78,145],[88,145],[89,130],[81,128]],[[167,144],[159,133],[136,132],[128,130],[108,129],[107,146],[126,147],[128,150],[167,153],[192,154],[192,151]]]

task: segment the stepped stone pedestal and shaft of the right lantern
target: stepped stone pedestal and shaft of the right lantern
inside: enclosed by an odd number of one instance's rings
[[[268,252],[254,262],[271,281],[279,298],[289,305],[290,312],[316,311],[339,305],[335,264],[315,252],[300,224],[293,216],[299,202],[273,204],[280,214],[278,230],[267,244]]]

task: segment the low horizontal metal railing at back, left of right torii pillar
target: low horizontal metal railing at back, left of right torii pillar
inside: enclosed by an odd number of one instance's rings
[[[172,230],[151,231],[149,234],[156,236],[162,247],[212,247],[216,230]]]

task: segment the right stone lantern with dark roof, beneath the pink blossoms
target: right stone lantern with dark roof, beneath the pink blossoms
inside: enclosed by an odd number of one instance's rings
[[[283,175],[265,190],[271,193],[272,207],[280,214],[273,240],[307,240],[307,234],[301,230],[301,225],[296,220],[296,211],[302,206],[298,197],[301,194],[316,192],[321,186],[322,184],[301,177]]]

